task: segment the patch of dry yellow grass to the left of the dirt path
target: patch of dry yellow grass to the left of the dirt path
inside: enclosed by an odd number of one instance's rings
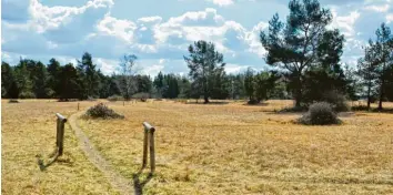
[[[77,102],[22,100],[1,104],[1,194],[118,194],[85,158],[66,125],[64,154],[48,167],[56,145],[54,113],[69,116]],[[81,103],[81,109],[92,103]]]

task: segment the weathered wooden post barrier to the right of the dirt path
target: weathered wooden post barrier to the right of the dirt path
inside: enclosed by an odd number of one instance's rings
[[[143,162],[142,168],[145,167],[148,163],[148,144],[150,141],[150,168],[151,173],[155,171],[155,148],[154,148],[154,131],[155,129],[148,122],[143,122],[144,127],[144,140],[143,140]],[[149,140],[149,141],[148,141]]]

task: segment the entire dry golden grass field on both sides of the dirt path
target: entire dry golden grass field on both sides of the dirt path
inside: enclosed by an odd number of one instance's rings
[[[290,101],[103,102],[125,120],[78,123],[144,194],[393,194],[393,114],[345,113],[342,125],[304,126],[292,122],[300,114],[272,112]],[[93,104],[83,102],[81,109]],[[69,126],[66,155],[40,171],[36,156],[54,148],[56,112],[71,115],[77,103],[2,101],[2,193],[115,194]],[[152,178],[149,170],[138,174],[143,121],[157,126]]]

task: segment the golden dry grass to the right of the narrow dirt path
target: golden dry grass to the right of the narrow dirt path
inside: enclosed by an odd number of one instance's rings
[[[299,114],[266,112],[289,101],[108,104],[125,120],[79,123],[147,194],[393,194],[393,114],[356,112],[343,125],[303,126],[291,122]],[[151,181],[135,175],[143,121],[157,126]]]

